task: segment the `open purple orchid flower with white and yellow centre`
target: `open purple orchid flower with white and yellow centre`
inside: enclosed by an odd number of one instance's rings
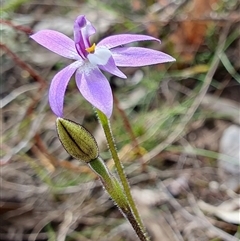
[[[31,36],[45,48],[75,60],[58,72],[51,82],[49,104],[57,116],[63,116],[64,95],[74,73],[77,87],[83,97],[110,118],[113,109],[112,90],[101,70],[126,78],[117,66],[139,67],[175,61],[160,51],[142,47],[123,47],[136,41],[160,42],[151,36],[119,34],[104,38],[97,45],[91,45],[89,37],[95,32],[95,28],[86,17],[80,15],[74,23],[74,41],[53,30],[41,30]]]

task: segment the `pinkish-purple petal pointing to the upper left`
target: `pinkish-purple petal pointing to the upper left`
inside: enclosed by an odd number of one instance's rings
[[[30,36],[43,47],[69,59],[80,59],[75,43],[66,35],[54,30],[41,30]]]

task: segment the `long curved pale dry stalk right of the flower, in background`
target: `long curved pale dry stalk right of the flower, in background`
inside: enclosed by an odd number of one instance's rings
[[[143,156],[145,163],[149,162],[152,158],[157,156],[161,151],[163,151],[166,147],[168,147],[169,144],[173,143],[174,141],[176,141],[179,138],[179,135],[183,132],[186,125],[189,123],[192,116],[196,112],[197,108],[201,104],[204,96],[207,93],[208,87],[211,84],[212,78],[217,70],[217,67],[220,63],[220,55],[224,50],[225,42],[226,42],[226,38],[227,38],[227,34],[229,32],[230,26],[231,25],[228,24],[225,27],[224,31],[222,32],[222,34],[219,38],[219,43],[218,43],[216,53],[214,55],[211,65],[210,65],[209,71],[207,72],[207,74],[205,76],[205,79],[203,81],[203,86],[201,88],[199,95],[196,97],[192,106],[188,109],[186,114],[183,116],[182,122],[176,127],[176,130],[172,134],[170,134],[169,137],[164,142],[162,142],[161,144],[156,146],[154,149],[152,149],[149,153],[147,153],[146,155]]]

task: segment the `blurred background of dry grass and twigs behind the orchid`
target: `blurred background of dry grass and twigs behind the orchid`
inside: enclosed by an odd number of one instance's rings
[[[145,46],[176,62],[107,75],[119,155],[152,241],[240,238],[240,39],[237,0],[1,1],[0,240],[135,241],[128,222],[84,164],[57,138],[49,109],[52,77],[70,63],[31,33],[73,36],[84,14],[92,41],[152,35]],[[104,133],[74,79],[65,118],[97,139],[114,171]]]

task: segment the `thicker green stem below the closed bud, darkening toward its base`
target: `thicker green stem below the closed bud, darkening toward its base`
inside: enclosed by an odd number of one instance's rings
[[[133,215],[129,203],[127,201],[126,195],[123,191],[121,184],[118,180],[109,172],[108,168],[104,164],[101,157],[88,162],[90,168],[98,175],[106,191],[116,203],[120,211],[126,217],[126,219],[131,223],[133,229],[135,230],[137,236],[141,241],[148,241],[146,234],[144,233],[141,226],[139,226],[138,221]]]

